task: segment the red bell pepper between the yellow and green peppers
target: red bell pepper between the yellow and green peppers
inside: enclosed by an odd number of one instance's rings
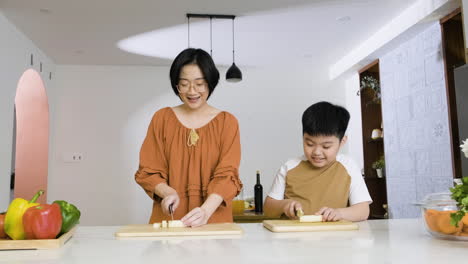
[[[58,204],[41,204],[28,208],[23,215],[27,239],[54,239],[62,227],[62,213]]]

